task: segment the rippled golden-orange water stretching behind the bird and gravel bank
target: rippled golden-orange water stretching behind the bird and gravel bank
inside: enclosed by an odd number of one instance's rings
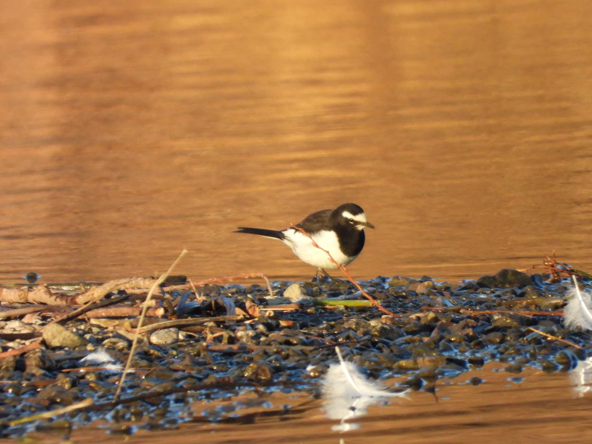
[[[591,8],[7,2],[0,281],[310,278],[232,231],[350,201],[359,278],[590,270]]]

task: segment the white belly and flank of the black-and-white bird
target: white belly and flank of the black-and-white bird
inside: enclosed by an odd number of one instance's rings
[[[288,229],[284,231],[284,234],[286,234],[287,238],[283,242],[291,247],[294,254],[303,262],[324,269],[338,268],[333,262],[331,262],[327,253],[313,246],[311,240],[308,239],[307,236],[304,236],[300,231]],[[342,253],[339,248],[337,234],[335,234],[334,231],[318,231],[318,233],[314,233],[311,237],[313,237],[314,242],[316,242],[318,246],[328,250],[339,265],[348,265],[356,258],[356,256],[346,256]]]

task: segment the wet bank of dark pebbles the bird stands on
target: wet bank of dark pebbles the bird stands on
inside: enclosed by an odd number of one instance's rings
[[[276,292],[274,298],[265,298],[267,292],[260,285],[208,285],[203,289],[203,301],[197,303],[194,295],[187,301],[188,304],[195,304],[188,316],[224,314],[224,307],[212,304],[212,301],[223,295],[232,300],[236,307],[244,307],[249,300],[248,294],[257,298],[259,304],[281,305],[356,292],[349,282],[327,279],[321,279],[320,282],[273,283]],[[132,366],[156,369],[146,378],[142,378],[142,374],[130,372],[123,392],[125,395],[137,395],[155,390],[162,391],[162,395],[159,393],[159,397],[149,398],[143,403],[117,407],[112,414],[107,414],[107,411],[101,414],[111,422],[108,426],[112,427],[111,432],[134,433],[136,429],[169,427],[178,423],[179,409],[170,408],[172,404],[178,403],[181,404],[180,408],[184,408],[183,404],[186,405],[189,400],[194,402],[231,397],[231,392],[220,388],[220,382],[244,382],[245,379],[251,382],[302,381],[312,384],[311,390],[315,391],[320,381],[314,379],[323,377],[329,365],[337,362],[333,345],[329,341],[344,344],[341,349],[345,353],[348,353],[348,347],[352,348],[353,352],[346,355],[346,360],[361,366],[365,375],[384,378],[387,375],[406,374],[408,379],[401,382],[401,386],[415,390],[423,386],[424,391],[433,390],[436,379],[439,384],[442,378],[456,377],[469,369],[480,369],[489,361],[503,362],[504,370],[511,373],[523,371],[527,366],[555,372],[574,368],[592,352],[588,335],[569,332],[562,326],[560,318],[530,318],[512,313],[472,317],[467,311],[541,310],[541,307],[561,310],[569,284],[549,284],[543,282],[540,276],[529,278],[515,270],[502,270],[493,276],[482,276],[477,282],[448,284],[427,276],[419,280],[394,276],[392,279],[377,278],[361,282],[363,288],[381,300],[388,310],[401,314],[414,313],[413,316],[388,317],[374,307],[329,309],[308,306],[304,310],[294,311],[262,309],[259,316],[248,323],[230,321],[202,324],[192,333],[179,332],[178,329],[153,331],[148,336],[149,341],[140,340]],[[585,280],[583,283],[589,291],[590,284]],[[525,304],[526,308],[523,308]],[[422,309],[424,305],[440,310],[425,310]],[[34,321],[41,322],[39,325],[43,326],[47,318],[39,317]],[[571,340],[583,349],[549,341],[527,330],[525,327],[528,325]],[[112,372],[62,371],[78,367],[81,354],[87,349],[98,348],[99,344],[108,349],[108,353],[118,362],[125,362],[131,334],[121,326],[120,320],[93,320],[89,324],[80,318],[62,327],[77,340],[83,340],[82,336],[85,336],[91,341],[85,342],[85,347],[79,347],[76,352],[46,350],[42,342],[39,350],[2,359],[0,380],[22,379],[42,383],[40,388],[21,384],[0,387],[0,403],[3,404],[3,413],[6,411],[5,417],[16,418],[23,411],[37,413],[51,410],[76,402],[76,397],[78,400],[94,397],[98,402],[111,398],[117,389],[117,376]],[[201,327],[209,328],[207,332],[202,332]],[[0,328],[4,332],[25,332],[31,325],[21,320],[10,320],[0,321]],[[56,327],[47,330],[52,328]],[[356,343],[345,345],[352,341]],[[16,348],[26,343],[30,343],[30,340],[5,341],[2,348]],[[211,345],[215,349],[210,348]],[[234,348],[231,353],[219,351],[219,346],[226,345],[239,345],[239,348]],[[266,348],[253,349],[253,345]],[[69,353],[72,359],[67,359]],[[52,360],[54,355],[60,358]],[[487,374],[482,372],[480,376],[483,379],[473,377],[467,381],[468,384],[478,385],[484,379],[487,380]],[[48,381],[50,384],[46,385]],[[217,383],[217,388],[200,391],[191,389],[192,385],[208,383]],[[167,390],[181,385],[191,394],[166,395]],[[41,390],[46,400],[37,397],[38,390]],[[282,390],[303,388],[285,387]],[[34,398],[36,403],[41,404],[28,404],[28,398]],[[72,427],[78,427],[90,422],[94,415],[82,412],[69,420]],[[214,416],[218,421],[224,421],[227,412],[216,411]],[[134,426],[124,426],[118,430],[117,421],[126,424],[134,422]],[[14,433],[10,427],[7,430],[6,433]],[[22,428],[18,433],[25,434],[26,430]],[[7,436],[2,433],[0,430],[0,437]]]

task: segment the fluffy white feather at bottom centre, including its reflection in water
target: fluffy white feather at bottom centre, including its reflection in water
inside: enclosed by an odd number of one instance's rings
[[[369,381],[352,362],[343,360],[339,348],[335,348],[339,364],[332,364],[323,381],[324,408],[327,417],[340,419],[333,430],[345,432],[358,428],[346,420],[366,414],[369,406],[384,398],[405,397],[407,391],[393,393],[385,390],[379,382]]]

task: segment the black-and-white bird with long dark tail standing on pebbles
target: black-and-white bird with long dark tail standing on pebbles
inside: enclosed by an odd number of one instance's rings
[[[364,229],[375,228],[366,220],[362,207],[352,203],[339,205],[334,210],[316,211],[296,226],[306,231],[318,246],[329,251],[341,266],[349,265],[362,251],[366,236]],[[333,279],[326,270],[339,268],[331,262],[327,253],[315,247],[307,236],[294,227],[281,231],[238,227],[234,233],[257,234],[281,240],[303,262],[317,268],[313,279],[317,278],[319,272]]]

